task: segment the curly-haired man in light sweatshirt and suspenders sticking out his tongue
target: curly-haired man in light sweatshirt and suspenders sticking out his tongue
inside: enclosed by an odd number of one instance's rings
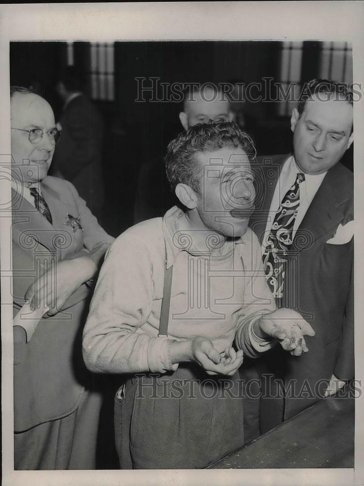
[[[251,139],[235,123],[197,124],[168,145],[168,180],[184,209],[132,226],[101,268],[83,333],[91,371],[125,374],[116,394],[121,469],[212,465],[244,443],[238,368],[288,330],[260,245],[248,228],[255,190]],[[172,273],[173,268],[173,273]]]

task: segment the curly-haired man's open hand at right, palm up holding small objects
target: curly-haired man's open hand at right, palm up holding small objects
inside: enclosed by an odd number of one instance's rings
[[[314,336],[315,332],[310,324],[303,319],[301,314],[292,309],[277,309],[270,314],[265,314],[254,323],[254,331],[265,339],[277,339],[285,351],[290,351],[292,356],[300,356],[308,352],[308,347],[303,336]],[[302,344],[291,342],[291,338],[302,338]]]

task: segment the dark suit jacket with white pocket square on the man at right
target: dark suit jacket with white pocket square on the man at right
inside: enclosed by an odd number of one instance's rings
[[[261,241],[287,157],[263,157],[256,166],[259,187],[250,226]],[[300,312],[315,330],[314,337],[305,338],[309,352],[295,357],[276,347],[261,358],[265,373],[282,378],[286,388],[295,384],[297,393],[308,384],[314,395],[310,397],[308,391],[303,398],[287,396],[284,408],[283,401],[277,408],[280,420],[322,396],[325,385],[318,388],[319,380],[330,380],[332,373],[342,380],[354,377],[353,239],[345,244],[327,243],[340,223],[344,226],[353,218],[353,174],[338,163],[326,174],[298,228],[284,279],[283,307]],[[266,407],[263,402],[261,417],[274,408],[272,399],[267,399]]]

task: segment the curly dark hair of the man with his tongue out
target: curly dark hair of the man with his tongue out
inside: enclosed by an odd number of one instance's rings
[[[240,148],[249,160],[256,156],[253,140],[235,122],[210,120],[181,132],[168,144],[165,155],[165,170],[172,191],[182,183],[199,193],[202,167],[195,154],[224,147]]]

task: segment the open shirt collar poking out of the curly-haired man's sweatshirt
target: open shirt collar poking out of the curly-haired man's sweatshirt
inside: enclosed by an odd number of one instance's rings
[[[178,255],[182,251],[186,251],[194,256],[207,256],[206,252],[199,251],[198,248],[194,246],[193,240],[188,234],[188,230],[183,231],[182,228],[184,226],[186,226],[186,217],[181,208],[174,206],[165,213],[162,223],[162,231],[165,239],[167,268],[174,264]],[[238,245],[239,243],[246,243],[250,239],[251,231],[248,229],[247,233],[242,237],[235,239],[234,243]],[[239,246],[237,248],[239,253],[241,253],[242,248],[239,248]]]

